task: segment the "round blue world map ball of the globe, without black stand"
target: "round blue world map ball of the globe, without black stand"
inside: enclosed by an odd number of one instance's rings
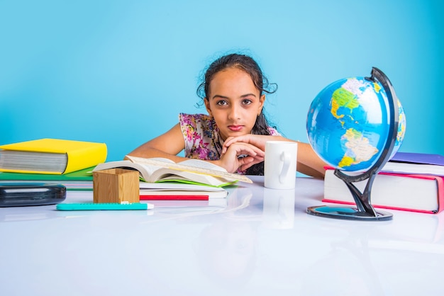
[[[406,131],[398,100],[399,127],[392,157]],[[381,156],[389,135],[387,94],[379,81],[340,79],[326,86],[311,103],[306,128],[318,156],[335,169],[367,171]]]

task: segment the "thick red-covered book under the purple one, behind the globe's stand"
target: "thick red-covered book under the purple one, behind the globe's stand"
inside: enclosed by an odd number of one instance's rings
[[[353,183],[360,191],[368,180]],[[326,168],[323,202],[355,205],[344,181]],[[444,176],[379,172],[374,178],[370,201],[374,207],[411,212],[444,210]]]

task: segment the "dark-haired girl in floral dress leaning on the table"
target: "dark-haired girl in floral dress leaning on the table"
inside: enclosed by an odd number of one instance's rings
[[[274,93],[254,59],[231,54],[220,57],[206,70],[197,89],[209,115],[179,114],[179,123],[130,155],[165,157],[179,162],[185,157],[211,161],[228,172],[263,175],[265,142],[292,141],[270,127],[263,113],[265,93]],[[294,142],[294,141],[292,141]],[[298,144],[299,172],[323,178],[325,163],[306,143]]]

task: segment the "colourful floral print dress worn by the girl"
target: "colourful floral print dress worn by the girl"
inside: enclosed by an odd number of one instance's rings
[[[221,158],[223,140],[213,118],[205,114],[180,113],[179,123],[185,140],[185,157],[204,160]],[[279,135],[272,127],[268,127],[268,130],[270,135]]]

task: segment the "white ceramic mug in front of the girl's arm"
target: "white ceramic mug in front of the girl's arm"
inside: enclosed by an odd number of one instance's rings
[[[297,142],[265,143],[264,186],[292,189],[296,183]]]

